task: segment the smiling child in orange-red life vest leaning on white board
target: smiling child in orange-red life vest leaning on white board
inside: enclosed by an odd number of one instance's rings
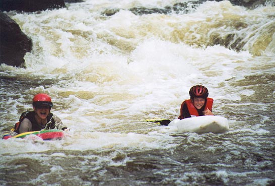
[[[190,99],[182,102],[179,119],[202,115],[214,115],[212,113],[213,99],[208,97],[208,89],[202,85],[190,88]]]

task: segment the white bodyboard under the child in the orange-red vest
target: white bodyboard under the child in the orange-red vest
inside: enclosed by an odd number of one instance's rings
[[[228,120],[222,116],[204,115],[185,119],[174,119],[169,126],[176,126],[180,133],[225,133],[229,131]]]

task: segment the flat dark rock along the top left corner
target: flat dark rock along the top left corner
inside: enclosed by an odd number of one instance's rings
[[[1,0],[1,11],[36,12],[64,8],[64,0]]]

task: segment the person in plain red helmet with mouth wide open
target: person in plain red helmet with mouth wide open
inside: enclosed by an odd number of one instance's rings
[[[37,94],[33,98],[33,110],[28,112],[20,122],[19,130],[21,134],[31,131],[40,131],[42,129],[59,129],[67,131],[59,117],[50,113],[53,106],[51,98],[47,94]]]

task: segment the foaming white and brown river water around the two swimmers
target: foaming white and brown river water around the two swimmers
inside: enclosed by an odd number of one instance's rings
[[[274,185],[274,3],[184,2],[7,13],[33,49],[25,68],[0,66],[1,134],[40,92],[71,131],[2,140],[0,185]],[[145,121],[177,118],[195,84],[208,87],[229,132]]]

